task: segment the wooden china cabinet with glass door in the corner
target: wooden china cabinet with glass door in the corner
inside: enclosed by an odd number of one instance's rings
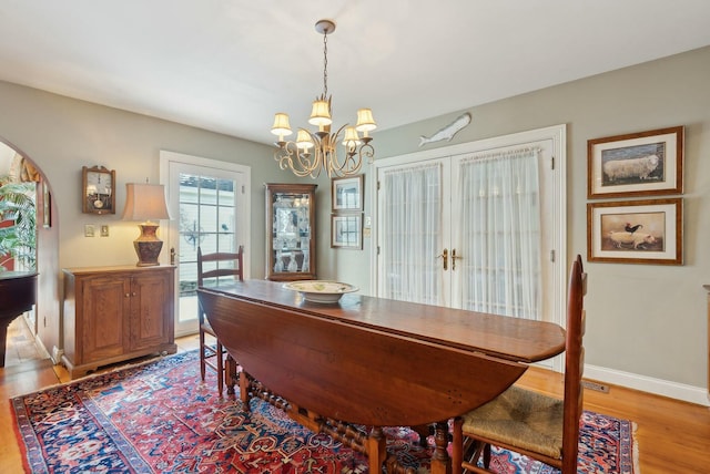
[[[266,278],[315,279],[315,184],[265,184]]]

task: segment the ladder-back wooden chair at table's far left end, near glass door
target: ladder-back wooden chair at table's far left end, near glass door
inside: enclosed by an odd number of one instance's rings
[[[236,253],[220,251],[205,255],[202,254],[202,248],[197,247],[197,288],[215,286],[225,280],[242,281],[244,279],[242,269],[243,255],[243,246],[240,246]],[[224,390],[225,379],[227,393],[233,393],[236,380],[236,362],[224,350],[199,302],[197,318],[200,322],[200,377],[204,382],[206,368],[213,369],[217,373],[220,396],[222,396],[222,391]],[[214,339],[214,343],[206,341],[207,334]]]

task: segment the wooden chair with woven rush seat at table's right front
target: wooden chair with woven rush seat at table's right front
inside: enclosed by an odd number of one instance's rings
[[[493,401],[454,420],[453,473],[490,473],[490,446],[525,454],[577,473],[579,421],[582,413],[581,375],[585,333],[584,298],[587,274],[581,256],[571,265],[565,338],[564,399],[511,385]],[[483,455],[483,467],[479,458]]]

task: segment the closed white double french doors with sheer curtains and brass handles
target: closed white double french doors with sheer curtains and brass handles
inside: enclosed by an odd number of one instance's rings
[[[377,296],[561,322],[564,133],[377,161]]]

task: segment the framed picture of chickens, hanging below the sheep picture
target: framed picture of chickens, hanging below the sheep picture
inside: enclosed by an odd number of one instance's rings
[[[587,204],[587,259],[682,265],[682,198]]]

